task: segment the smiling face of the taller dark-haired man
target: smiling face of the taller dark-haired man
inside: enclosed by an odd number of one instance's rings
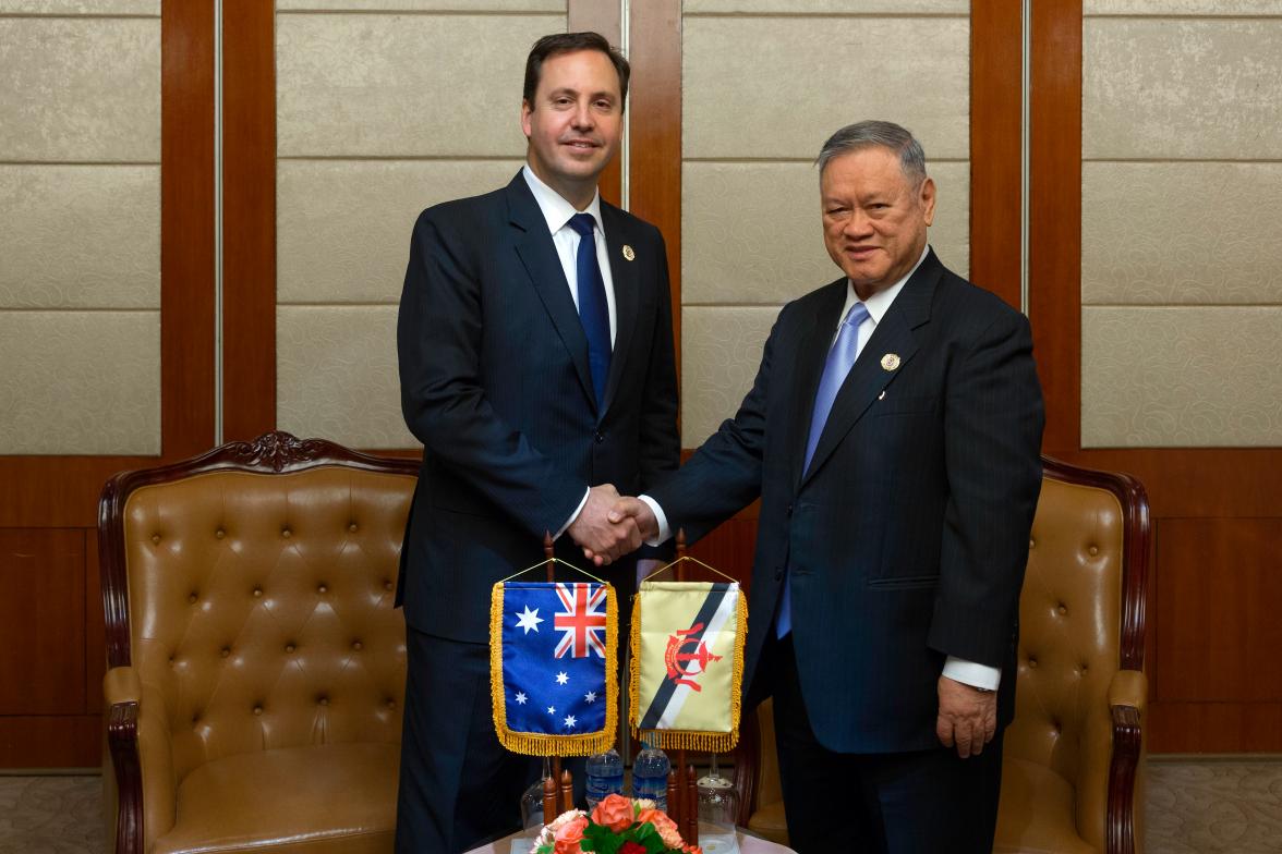
[[[544,60],[533,101],[520,105],[529,140],[526,160],[540,181],[582,210],[619,147],[623,97],[619,73],[599,50]]]

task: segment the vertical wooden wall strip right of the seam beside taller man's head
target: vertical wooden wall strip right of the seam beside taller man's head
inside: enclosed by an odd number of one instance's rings
[[[632,8],[632,213],[668,245],[672,333],[681,373],[681,0]]]

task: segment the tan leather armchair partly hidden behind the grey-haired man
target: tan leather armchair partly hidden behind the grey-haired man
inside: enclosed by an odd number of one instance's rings
[[[1149,502],[1135,479],[1042,457],[1019,600],[999,854],[1144,850]],[[745,714],[740,823],[787,842],[769,704]]]

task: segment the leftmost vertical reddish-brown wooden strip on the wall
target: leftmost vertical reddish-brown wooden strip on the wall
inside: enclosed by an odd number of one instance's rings
[[[160,435],[214,442],[214,9],[160,12]]]

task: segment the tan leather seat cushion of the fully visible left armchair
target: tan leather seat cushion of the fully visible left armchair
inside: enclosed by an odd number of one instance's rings
[[[390,851],[396,744],[326,744],[244,753],[192,771],[178,817],[153,854]]]

